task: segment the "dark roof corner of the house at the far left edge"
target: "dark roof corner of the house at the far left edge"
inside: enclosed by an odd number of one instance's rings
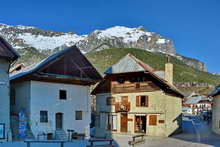
[[[12,46],[0,36],[0,58],[5,58],[11,62],[15,61],[19,54],[12,48]]]

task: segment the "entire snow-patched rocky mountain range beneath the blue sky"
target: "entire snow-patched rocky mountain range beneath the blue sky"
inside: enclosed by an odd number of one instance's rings
[[[116,26],[106,30],[95,30],[88,35],[77,35],[72,32],[53,32],[36,27],[0,24],[0,35],[23,55],[20,62],[28,64],[38,62],[56,50],[76,44],[83,53],[108,48],[140,48],[162,52],[176,56],[193,68],[206,71],[202,62],[177,55],[172,40],[149,32],[143,27]],[[30,60],[29,57],[32,56],[35,60]]]

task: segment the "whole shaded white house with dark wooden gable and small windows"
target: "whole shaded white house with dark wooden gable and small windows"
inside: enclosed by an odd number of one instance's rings
[[[76,46],[10,76],[14,139],[90,136],[90,86],[102,77]]]

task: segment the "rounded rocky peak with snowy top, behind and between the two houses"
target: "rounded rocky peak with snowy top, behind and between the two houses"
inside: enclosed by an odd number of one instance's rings
[[[148,32],[143,27],[116,26],[106,30],[96,30],[78,42],[78,46],[84,51],[107,48],[140,48],[152,52],[176,54],[171,40]]]

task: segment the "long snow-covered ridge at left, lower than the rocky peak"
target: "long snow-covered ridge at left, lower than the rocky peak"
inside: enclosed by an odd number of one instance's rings
[[[71,46],[85,38],[85,36],[73,33],[52,32],[36,27],[5,24],[0,24],[0,35],[5,37],[16,49],[34,47],[38,50],[53,50],[62,46]]]

